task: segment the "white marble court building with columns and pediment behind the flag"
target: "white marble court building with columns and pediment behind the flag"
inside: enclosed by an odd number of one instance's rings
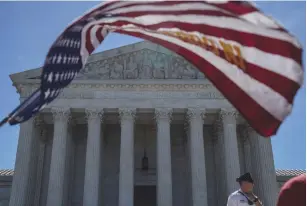
[[[41,69],[11,75],[21,100]],[[197,69],[144,41],[92,55],[21,124],[10,206],[225,206],[251,172],[278,194],[271,140],[259,137]]]

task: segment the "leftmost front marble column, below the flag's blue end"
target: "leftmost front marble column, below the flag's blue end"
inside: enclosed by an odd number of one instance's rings
[[[33,171],[36,167],[35,152],[37,152],[37,134],[39,127],[35,127],[38,117],[31,118],[20,124],[20,132],[16,153],[14,177],[11,189],[10,206],[28,206],[34,198]],[[33,197],[33,198],[32,198]]]

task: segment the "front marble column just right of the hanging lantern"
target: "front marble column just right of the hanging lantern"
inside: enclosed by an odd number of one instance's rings
[[[172,109],[155,110],[157,122],[157,206],[172,206],[171,122]]]

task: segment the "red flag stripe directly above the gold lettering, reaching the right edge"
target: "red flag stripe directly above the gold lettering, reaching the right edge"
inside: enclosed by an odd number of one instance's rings
[[[117,21],[107,25],[123,26],[126,24],[132,24],[132,23],[129,21]],[[100,25],[105,25],[105,24],[100,24]],[[302,49],[295,47],[293,44],[287,41],[279,39],[260,36],[252,33],[235,31],[232,29],[209,26],[205,24],[190,24],[190,23],[181,23],[181,22],[172,21],[172,22],[163,22],[159,24],[154,24],[146,27],[142,24],[133,23],[133,25],[152,30],[157,30],[160,28],[169,28],[169,29],[179,28],[186,32],[198,31],[204,35],[210,35],[217,38],[236,41],[239,44],[246,47],[254,47],[267,53],[287,57],[293,59],[298,64],[302,65]]]

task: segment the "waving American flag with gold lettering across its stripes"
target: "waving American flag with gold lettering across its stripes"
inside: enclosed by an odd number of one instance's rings
[[[110,32],[160,44],[194,64],[261,135],[276,133],[303,82],[302,48],[250,2],[109,1],[75,20],[50,48],[41,87],[2,123],[52,102]]]

